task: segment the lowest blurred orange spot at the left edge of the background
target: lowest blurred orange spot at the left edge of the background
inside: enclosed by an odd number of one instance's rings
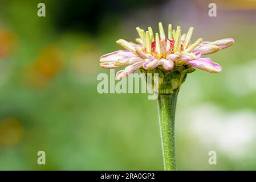
[[[0,144],[14,146],[18,144],[23,135],[22,123],[16,118],[3,118],[0,121]]]

